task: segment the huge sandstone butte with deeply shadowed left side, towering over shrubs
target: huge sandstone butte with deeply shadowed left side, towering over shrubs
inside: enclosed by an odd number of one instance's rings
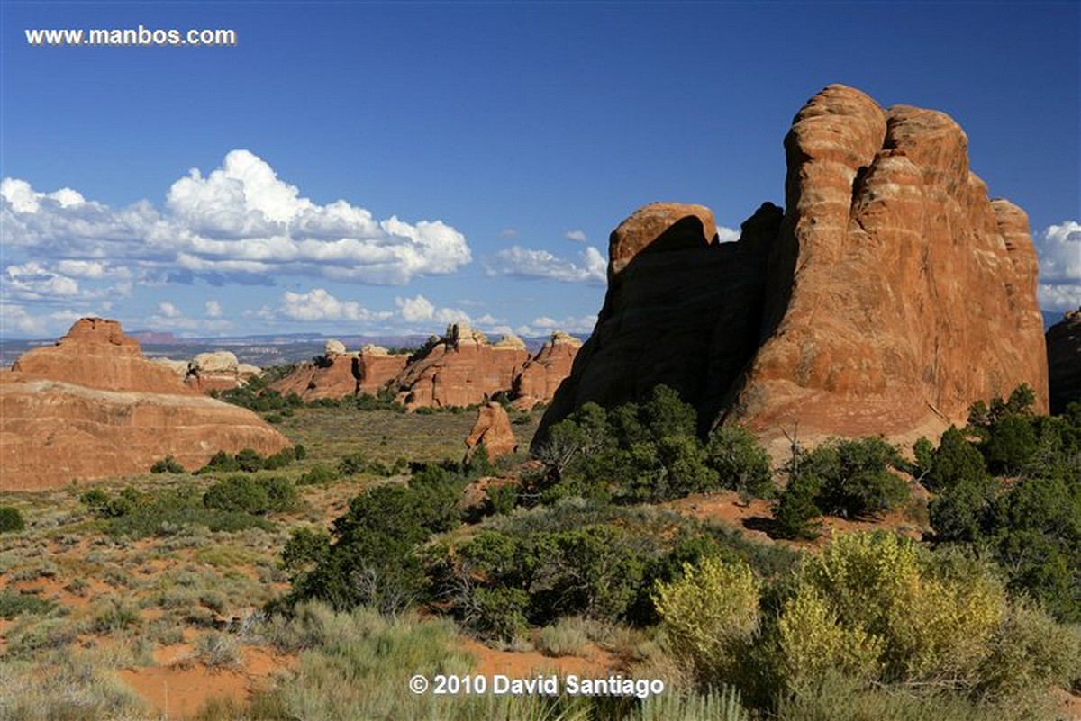
[[[989,200],[949,117],[830,85],[785,138],[785,208],[719,243],[700,205],[655,203],[609,243],[591,338],[545,430],[587,402],[657,383],[702,431],[746,424],[777,446],[936,437],[1020,383],[1047,410],[1047,362],[1025,213]]]

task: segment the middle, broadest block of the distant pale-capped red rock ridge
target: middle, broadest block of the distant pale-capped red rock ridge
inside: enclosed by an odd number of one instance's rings
[[[529,357],[521,340],[489,344],[484,334],[467,324],[451,325],[432,338],[417,358],[390,383],[398,402],[419,406],[469,406],[508,391]]]

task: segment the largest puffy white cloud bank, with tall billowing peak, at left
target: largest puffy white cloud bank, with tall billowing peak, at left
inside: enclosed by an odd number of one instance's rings
[[[107,261],[130,275],[179,268],[206,277],[293,274],[400,285],[451,273],[472,259],[465,236],[440,220],[377,220],[346,201],[313,203],[248,150],[209,175],[192,169],[165,194],[122,208],[71,189],[0,181],[3,242],[66,263],[70,277],[98,277]],[[118,271],[119,272],[119,271]],[[251,280],[251,278],[249,278]]]

